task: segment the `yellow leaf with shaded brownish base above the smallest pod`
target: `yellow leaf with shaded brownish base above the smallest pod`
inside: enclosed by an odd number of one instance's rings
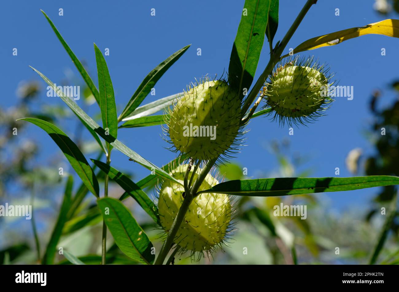
[[[388,37],[399,37],[399,20],[398,19],[385,19],[379,22],[370,23],[363,27],[353,27],[336,31],[335,33],[329,33],[327,35],[321,35],[308,39],[301,43],[294,49],[294,53],[299,53],[308,50],[314,50],[321,47],[334,46],[347,39],[353,39],[360,37],[361,35],[386,35]],[[288,55],[283,56],[286,57]]]

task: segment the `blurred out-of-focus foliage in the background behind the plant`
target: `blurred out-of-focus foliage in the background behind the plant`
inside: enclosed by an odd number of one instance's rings
[[[399,13],[399,0],[376,0],[373,8],[380,14]],[[70,80],[63,83],[81,84],[73,75],[68,75],[68,78]],[[81,88],[85,86],[81,84]],[[391,105],[380,108],[379,100],[387,90],[396,90],[397,98]],[[18,105],[0,109],[0,204],[8,202],[34,206],[34,220],[0,217],[0,264],[38,263],[37,254],[39,252],[43,255],[61,206],[63,194],[60,185],[65,185],[68,171],[73,172],[68,165],[64,165],[64,175],[58,175],[54,167],[58,168],[62,164],[61,152],[39,162],[35,157],[41,151],[40,143],[17,139],[13,134],[14,128],[20,132],[27,125],[16,121],[21,117],[39,117],[55,125],[73,121],[69,121],[69,109],[41,104],[37,96],[43,92],[45,88],[37,81],[23,81],[16,90]],[[83,90],[83,95],[87,106],[95,101],[89,90]],[[32,106],[33,103],[35,106]],[[347,168],[356,175],[399,176],[399,79],[393,79],[389,87],[371,93],[369,110],[373,114],[373,121],[364,129],[364,137],[374,145],[375,153],[364,157],[361,149],[354,148],[348,153]],[[73,135],[75,143],[85,154],[97,153],[97,143],[84,141],[82,125],[79,121],[76,121],[76,125]],[[382,128],[385,128],[385,135],[381,134]],[[269,169],[269,172],[257,173],[257,177],[312,176],[311,168],[300,173],[296,170],[312,154],[292,151],[288,139],[273,140],[264,145],[264,148],[277,158],[279,166]],[[228,180],[251,178],[243,174],[246,172],[242,165],[234,162],[221,165],[218,172]],[[156,197],[154,189],[146,189],[146,192]],[[111,181],[109,196],[117,198],[122,193],[123,190]],[[381,215],[381,208],[388,208],[389,203],[395,200],[396,193],[397,187],[394,186],[375,189],[375,197],[368,210],[351,207],[339,213],[328,208],[329,202],[322,195],[235,198],[236,230],[233,239],[227,243],[229,247],[214,253],[210,258],[202,258],[198,263],[367,264],[371,261],[372,251],[381,237],[383,227],[387,226],[387,241],[379,257],[374,260],[381,264],[399,264],[399,213],[396,211],[389,222],[386,222],[387,216]],[[273,207],[281,202],[285,205],[304,204],[312,216],[306,220],[300,220],[300,217],[273,216]],[[132,198],[127,199],[125,204],[154,242],[156,250],[159,250],[162,232]],[[34,228],[38,234],[36,240],[32,231]],[[101,261],[101,230],[102,220],[98,207],[87,196],[83,204],[73,210],[73,214],[69,214],[57,246],[79,257],[84,263],[98,264]],[[119,250],[112,236],[107,238],[107,263],[136,264]],[[37,245],[40,246],[39,251]],[[247,254],[243,253],[243,248],[247,248]],[[178,254],[174,260],[174,264],[191,262],[189,254]],[[58,253],[55,263],[70,264]]]

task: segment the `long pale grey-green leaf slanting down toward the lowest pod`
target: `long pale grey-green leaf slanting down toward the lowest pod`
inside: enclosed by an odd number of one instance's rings
[[[163,171],[162,169],[160,169],[158,166],[152,164],[151,162],[149,162],[148,160],[142,158],[140,155],[138,155],[136,152],[134,152],[133,150],[131,150],[130,148],[128,148],[125,144],[123,144],[122,142],[120,142],[119,140],[117,140],[115,137],[111,136],[111,135],[107,135],[105,133],[105,130],[103,128],[101,128],[99,126],[99,124],[97,124],[91,117],[89,117],[87,115],[87,113],[85,113],[83,111],[83,109],[81,109],[79,107],[79,105],[77,105],[75,102],[73,102],[69,97],[65,97],[62,92],[57,91],[57,88],[54,86],[53,82],[51,82],[46,76],[44,76],[43,74],[41,74],[40,71],[36,70],[35,68],[33,68],[32,66],[30,66],[33,70],[35,70],[41,78],[43,78],[43,80],[49,84],[49,86],[53,87],[53,90],[55,90],[55,92],[57,92],[57,95],[59,97],[61,97],[61,99],[67,104],[67,106],[75,113],[77,114],[79,117],[81,117],[81,119],[90,127],[92,128],[97,134],[99,134],[105,141],[107,141],[109,144],[111,144],[113,147],[117,148],[120,152],[122,152],[123,154],[125,154],[126,156],[128,156],[129,158],[131,158],[132,160],[138,162],[139,164],[143,165],[144,167],[146,167],[147,169],[150,169],[151,171],[154,170],[156,173],[158,173],[160,176],[165,177],[167,179],[170,179],[176,183],[179,183],[176,179],[174,179],[169,173],[166,173],[165,171]]]

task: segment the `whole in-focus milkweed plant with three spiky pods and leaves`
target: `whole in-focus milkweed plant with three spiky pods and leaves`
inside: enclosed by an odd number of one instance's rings
[[[32,67],[77,116],[101,147],[101,155],[90,164],[78,146],[60,128],[48,121],[24,118],[49,134],[82,180],[74,196],[65,197],[41,263],[53,264],[60,233],[80,206],[86,193],[97,198],[103,217],[101,264],[106,263],[107,229],[119,249],[135,261],[148,265],[173,262],[174,257],[190,253],[192,259],[211,255],[223,249],[226,240],[234,239],[235,198],[237,196],[286,196],[319,192],[350,191],[377,186],[398,185],[399,177],[320,177],[320,178],[261,178],[221,182],[215,170],[239,155],[250,119],[269,115],[270,122],[288,125],[315,123],[333,104],[330,94],[334,73],[328,65],[314,56],[301,52],[334,46],[366,34],[399,37],[399,20],[386,19],[363,27],[328,33],[304,41],[295,49],[286,45],[310,9],[317,9],[317,0],[308,0],[292,25],[279,41],[274,41],[279,22],[279,0],[246,0],[241,22],[233,43],[227,74],[223,78],[205,77],[187,80],[181,93],[141,105],[161,76],[176,62],[190,45],[162,61],[142,81],[123,111],[117,115],[115,94],[105,57],[94,44],[97,61],[98,89],[93,80],[67,45],[53,22],[43,12],[55,35],[71,57],[101,110],[102,126],[39,70]],[[240,12],[237,11],[237,15]],[[258,64],[265,37],[270,59]],[[253,84],[257,67],[261,75]],[[205,73],[205,72],[204,72]],[[257,111],[259,107],[259,110]],[[163,111],[161,115],[154,115]],[[265,120],[266,121],[266,120]],[[165,143],[176,153],[176,159],[163,167],[152,164],[128,145],[117,139],[119,130],[162,125]],[[309,124],[311,127],[311,124]],[[133,128],[133,129],[128,129]],[[160,131],[161,132],[161,131]],[[168,144],[169,143],[169,144]],[[114,150],[115,149],[115,150]],[[151,170],[138,182],[111,166],[111,152],[120,151],[129,160]],[[98,168],[98,169],[96,169]],[[104,196],[100,197],[99,176],[104,177]],[[108,197],[109,179],[122,187],[120,199]],[[71,189],[72,179],[66,189]],[[157,202],[144,189],[156,187]],[[67,195],[65,195],[67,196]],[[156,250],[152,242],[124,205],[132,197],[162,230],[163,245]],[[99,215],[100,216],[100,215]],[[231,243],[234,244],[234,243]],[[70,261],[76,262],[67,253]]]

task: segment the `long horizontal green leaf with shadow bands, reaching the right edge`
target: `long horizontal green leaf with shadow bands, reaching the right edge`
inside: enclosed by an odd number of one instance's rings
[[[220,193],[237,196],[274,197],[309,193],[352,191],[369,187],[399,185],[399,177],[370,175],[360,177],[283,177],[246,179],[219,183],[199,193]]]

